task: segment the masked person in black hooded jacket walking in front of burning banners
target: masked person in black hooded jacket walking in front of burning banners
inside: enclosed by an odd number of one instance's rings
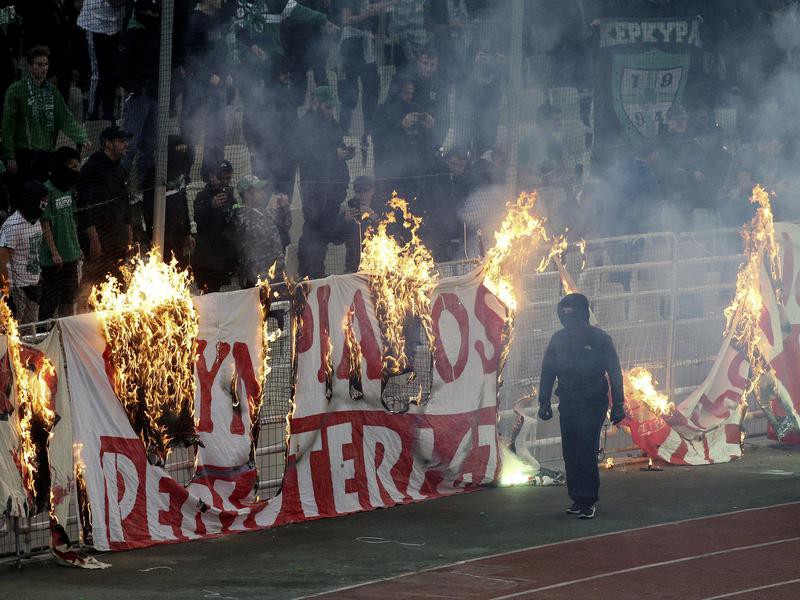
[[[611,421],[616,425],[625,418],[622,370],[611,337],[589,324],[586,296],[564,296],[558,303],[558,318],[564,329],[553,334],[544,354],[539,418],[553,418],[550,396],[558,380],[561,448],[573,501],[566,512],[592,519],[600,489],[597,448],[608,411],[609,384]]]

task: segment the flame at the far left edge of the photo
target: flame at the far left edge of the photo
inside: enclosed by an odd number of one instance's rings
[[[25,489],[36,497],[36,474],[40,468],[39,453],[43,450],[36,442],[34,428],[44,428],[49,439],[55,424],[53,398],[48,380],[55,375],[55,368],[47,357],[40,361],[23,359],[22,341],[17,321],[6,302],[6,290],[0,294],[0,333],[6,335],[9,363],[13,372],[16,392],[16,423],[19,448],[15,460],[19,466]]]

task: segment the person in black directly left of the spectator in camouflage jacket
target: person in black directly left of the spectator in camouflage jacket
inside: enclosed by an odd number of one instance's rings
[[[197,243],[192,256],[192,271],[199,288],[218,292],[231,283],[237,270],[236,212],[233,195],[233,166],[221,161],[194,201]]]

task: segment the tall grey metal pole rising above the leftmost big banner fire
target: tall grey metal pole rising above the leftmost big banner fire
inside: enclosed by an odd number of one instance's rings
[[[153,246],[164,251],[167,209],[167,143],[169,141],[169,88],[172,83],[172,23],[174,0],[161,4],[161,47],[158,58],[158,122],[156,124],[156,181],[153,201]],[[164,256],[164,260],[169,257]]]

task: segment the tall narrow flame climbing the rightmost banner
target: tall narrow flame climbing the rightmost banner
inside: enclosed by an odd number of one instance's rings
[[[725,335],[733,332],[734,339],[744,348],[750,363],[750,380],[748,388],[742,394],[743,398],[756,388],[759,379],[769,368],[758,351],[761,338],[758,322],[763,309],[760,285],[762,265],[766,262],[764,266],[773,281],[781,279],[769,194],[757,185],[753,188],[750,202],[756,204],[757,208],[750,223],[742,229],[746,259],[739,266],[736,275],[736,292],[733,300],[725,309]]]

